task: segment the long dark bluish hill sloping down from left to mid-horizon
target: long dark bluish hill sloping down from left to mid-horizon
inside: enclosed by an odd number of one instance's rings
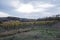
[[[29,21],[35,21],[35,19],[18,18],[18,17],[0,17],[0,22],[5,22],[5,21],[29,22]]]

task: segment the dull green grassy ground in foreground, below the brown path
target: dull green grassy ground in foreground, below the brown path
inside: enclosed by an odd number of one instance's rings
[[[2,37],[0,40],[60,40],[60,30],[53,28],[34,28],[31,31]]]

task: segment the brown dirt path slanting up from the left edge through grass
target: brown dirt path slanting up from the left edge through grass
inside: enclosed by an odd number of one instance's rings
[[[17,33],[28,32],[30,30],[31,30],[31,28],[25,28],[25,29],[18,29],[18,30],[10,30],[10,31],[6,31],[6,32],[1,32],[0,37],[11,36],[11,35],[14,35]]]

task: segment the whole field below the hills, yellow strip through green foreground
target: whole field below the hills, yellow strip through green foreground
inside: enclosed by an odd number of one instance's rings
[[[1,26],[4,25],[2,29],[7,30],[7,32],[4,31],[0,34],[0,40],[60,40],[60,29],[52,27],[57,21],[14,21],[13,25],[11,22],[5,23],[6,25],[0,24]]]

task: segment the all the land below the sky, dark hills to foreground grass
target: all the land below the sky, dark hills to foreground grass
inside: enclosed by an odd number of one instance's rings
[[[0,18],[0,40],[57,40],[60,38],[60,17],[26,19]]]

